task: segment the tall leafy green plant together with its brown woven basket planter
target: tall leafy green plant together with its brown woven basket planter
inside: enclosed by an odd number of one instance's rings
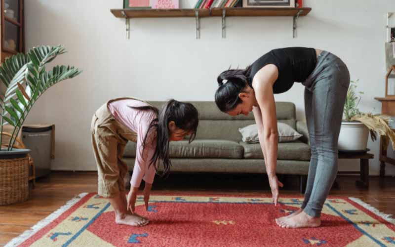
[[[18,140],[30,110],[53,84],[81,73],[71,66],[45,66],[66,52],[62,45],[34,47],[27,54],[18,53],[0,66],[0,205],[22,202],[28,198],[30,150]],[[7,131],[4,131],[7,128]]]

